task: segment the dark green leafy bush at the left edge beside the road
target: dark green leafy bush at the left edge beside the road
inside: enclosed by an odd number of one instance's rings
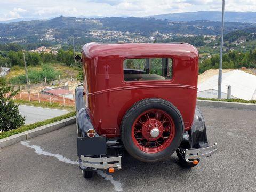
[[[5,78],[0,78],[0,131],[17,129],[24,125],[25,116],[19,114],[19,105],[11,100],[18,91],[14,91]]]

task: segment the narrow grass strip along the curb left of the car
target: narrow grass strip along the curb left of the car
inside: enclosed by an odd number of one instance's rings
[[[15,130],[4,131],[4,132],[0,133],[0,139],[9,137],[9,136],[14,135],[14,134],[22,133],[24,131],[35,129],[36,127],[40,127],[40,126],[43,126],[43,125],[47,125],[47,124],[50,124],[50,123],[61,121],[62,119],[73,117],[75,115],[76,115],[76,112],[72,111],[68,114],[65,114],[65,115],[62,115],[62,116],[59,116],[59,117],[55,117],[55,118],[52,118],[52,119],[47,119],[45,121],[36,122],[36,123],[33,123],[33,124],[29,124],[29,125],[23,125],[23,126],[19,127],[18,129],[15,129]]]

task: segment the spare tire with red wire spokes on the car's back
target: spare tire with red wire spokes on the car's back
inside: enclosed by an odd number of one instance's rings
[[[184,124],[172,103],[158,98],[135,103],[121,122],[121,139],[127,152],[145,162],[171,156],[179,147]]]

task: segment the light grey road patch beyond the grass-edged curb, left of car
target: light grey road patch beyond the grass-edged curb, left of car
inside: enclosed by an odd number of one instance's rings
[[[69,113],[69,111],[20,105],[19,113],[26,116],[25,124],[30,124],[30,123],[35,123],[38,121],[44,121],[46,119],[58,117],[66,113]]]

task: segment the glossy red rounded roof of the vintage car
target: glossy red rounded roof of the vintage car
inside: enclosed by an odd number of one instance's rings
[[[146,55],[164,57],[165,55],[198,56],[197,49],[188,43],[87,43],[83,47],[87,58],[94,57],[143,57]]]

